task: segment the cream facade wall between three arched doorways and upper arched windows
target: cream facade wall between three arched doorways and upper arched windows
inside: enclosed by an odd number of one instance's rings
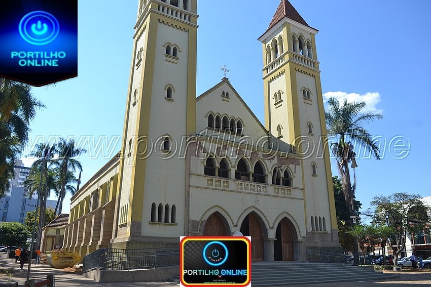
[[[215,180],[217,179],[214,179],[214,183]],[[229,183],[229,187],[226,182]],[[275,238],[277,220],[280,220],[279,217],[283,214],[288,215],[295,222],[299,234],[297,239],[305,236],[304,201],[300,189],[292,188],[290,190],[292,196],[268,195],[268,193],[274,192],[274,187],[224,180],[221,182],[224,187],[212,187],[208,186],[211,185],[211,178],[198,176],[192,176],[191,185],[190,235],[202,233],[200,222],[206,220],[214,212],[220,212],[226,218],[232,233],[240,231],[245,216],[249,212],[255,211],[262,217],[268,237]],[[207,186],[205,187],[205,185]]]

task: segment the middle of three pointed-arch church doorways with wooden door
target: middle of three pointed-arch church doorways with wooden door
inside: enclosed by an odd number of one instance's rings
[[[252,236],[252,261],[263,261],[262,227],[253,213],[245,217],[241,224],[240,231],[244,236]]]

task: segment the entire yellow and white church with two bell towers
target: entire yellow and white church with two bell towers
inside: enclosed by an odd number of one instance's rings
[[[72,198],[63,248],[252,237],[256,261],[339,247],[315,34],[282,0],[263,48],[265,125],[228,78],[196,97],[197,0],[141,0],[122,150]],[[310,152],[312,150],[312,152]]]

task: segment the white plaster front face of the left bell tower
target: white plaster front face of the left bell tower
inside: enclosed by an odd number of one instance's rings
[[[187,81],[188,81],[188,34],[186,31],[158,23],[154,81],[151,97],[149,137],[155,144],[154,151],[147,159],[144,192],[142,228],[143,236],[179,237],[184,234],[185,206],[185,159],[179,158],[175,149],[186,135]],[[166,61],[165,43],[176,44],[177,64]],[[167,101],[165,87],[171,84],[175,92],[173,101]],[[145,104],[145,103],[144,103]],[[158,139],[169,135],[173,139],[172,151],[166,155],[161,152],[163,141]],[[166,157],[171,157],[166,159]],[[161,158],[163,157],[163,158]],[[138,176],[138,175],[137,175]],[[176,206],[177,226],[150,225],[151,205],[155,202]]]

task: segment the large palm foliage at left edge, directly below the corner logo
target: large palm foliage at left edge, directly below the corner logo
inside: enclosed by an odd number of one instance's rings
[[[17,156],[28,140],[30,121],[45,105],[30,93],[30,86],[0,77],[0,196],[14,178]]]

